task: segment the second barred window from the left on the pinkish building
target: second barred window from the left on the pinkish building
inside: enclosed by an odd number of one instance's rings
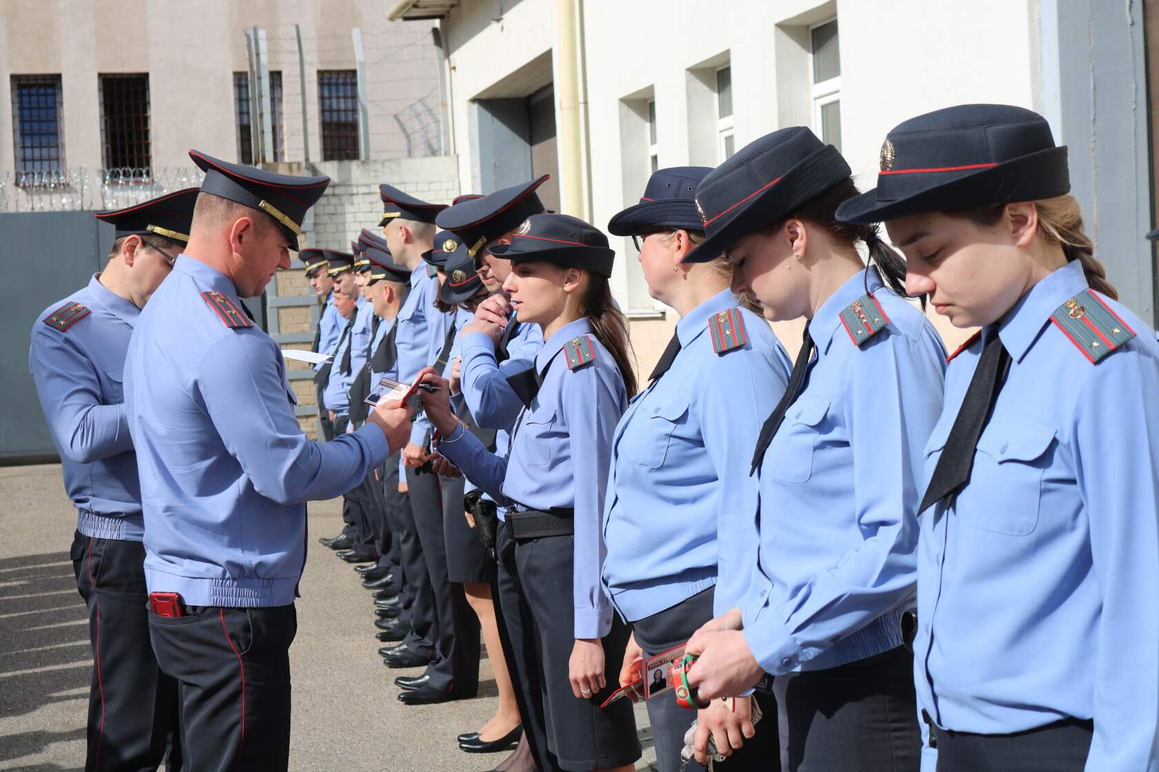
[[[132,169],[134,177],[151,175],[148,75],[99,75],[101,142],[105,169]]]

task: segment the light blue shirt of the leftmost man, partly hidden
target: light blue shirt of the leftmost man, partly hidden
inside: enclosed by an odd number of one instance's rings
[[[96,538],[140,542],[140,485],[129,435],[122,373],[140,311],[97,277],[36,317],[28,367],[60,453],[76,530]],[[89,315],[61,332],[42,319],[65,303]]]

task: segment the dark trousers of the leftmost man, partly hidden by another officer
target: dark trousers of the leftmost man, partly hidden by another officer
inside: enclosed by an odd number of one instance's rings
[[[177,736],[177,684],[150,645],[145,546],[78,531],[70,557],[93,645],[85,769],[156,769],[170,734]],[[181,769],[180,742],[169,764]]]

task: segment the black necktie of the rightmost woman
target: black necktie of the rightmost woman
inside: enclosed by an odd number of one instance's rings
[[[982,350],[982,356],[978,358],[978,368],[974,370],[970,388],[962,398],[962,406],[949,431],[946,448],[938,459],[938,465],[934,466],[926,494],[921,497],[919,515],[926,507],[957,493],[970,481],[978,438],[982,436],[982,429],[986,427],[994,410],[994,400],[998,398],[999,389],[1003,388],[1009,366],[1011,355],[1003,346],[998,332],[993,331],[985,348]]]

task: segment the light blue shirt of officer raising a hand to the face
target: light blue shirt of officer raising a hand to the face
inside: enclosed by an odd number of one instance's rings
[[[509,318],[508,324],[516,324],[516,321]],[[538,324],[519,324],[508,343],[508,359],[503,362],[495,355],[495,344],[482,332],[468,332],[457,344],[462,356],[460,396],[475,424],[496,429],[495,453],[505,456],[511,442],[510,429],[523,410],[508,376],[532,366],[535,354],[544,347],[544,331]],[[500,520],[506,520],[505,507],[497,507],[496,513]]]

